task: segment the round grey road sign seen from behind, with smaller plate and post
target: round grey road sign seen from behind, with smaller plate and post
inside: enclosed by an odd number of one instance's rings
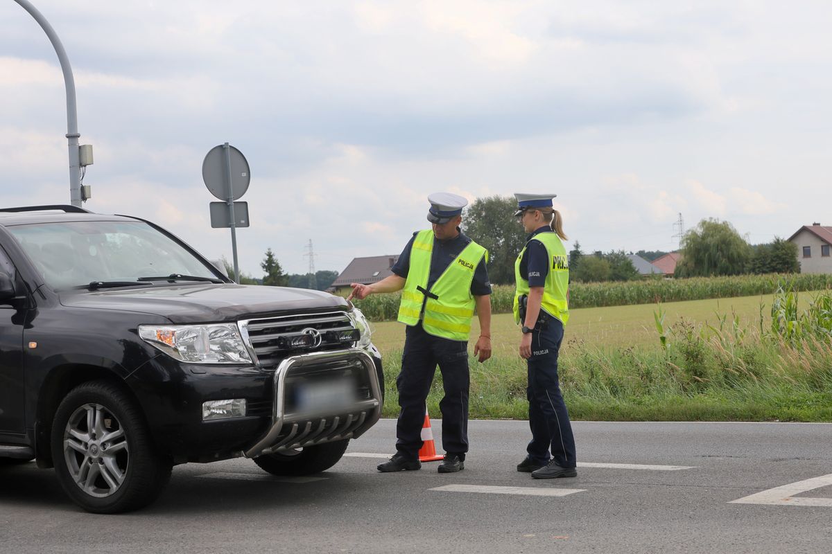
[[[224,202],[210,203],[210,224],[213,228],[231,229],[231,252],[234,256],[234,280],[240,282],[237,265],[237,228],[249,226],[249,206],[235,202],[249,189],[251,170],[240,150],[227,142],[208,151],[202,160],[202,180],[216,198]],[[239,214],[236,212],[240,212]]]

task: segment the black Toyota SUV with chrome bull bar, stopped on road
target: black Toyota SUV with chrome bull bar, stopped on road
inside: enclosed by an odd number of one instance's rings
[[[37,459],[107,513],[151,503],[176,463],[316,473],[383,390],[343,298],[237,285],[140,218],[0,209],[0,471]]]

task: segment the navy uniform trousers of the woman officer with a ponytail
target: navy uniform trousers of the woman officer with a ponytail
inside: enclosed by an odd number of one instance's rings
[[[528,364],[528,424],[532,440],[526,450],[539,463],[547,463],[549,452],[557,465],[575,467],[575,439],[557,380],[557,354],[563,341],[563,323],[547,316],[532,331],[532,357]]]

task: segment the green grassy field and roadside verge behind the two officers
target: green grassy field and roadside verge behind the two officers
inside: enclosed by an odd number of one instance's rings
[[[800,309],[811,299],[801,295]],[[832,344],[770,336],[773,301],[769,295],[572,311],[559,368],[572,418],[832,421]],[[657,310],[665,313],[665,347]],[[384,415],[395,417],[404,326],[373,325],[384,355]],[[493,316],[492,337],[494,354],[484,364],[473,358],[474,341],[469,345],[470,417],[527,419],[526,363],[516,354],[519,334],[510,314]],[[428,395],[434,418],[442,397],[437,370]]]

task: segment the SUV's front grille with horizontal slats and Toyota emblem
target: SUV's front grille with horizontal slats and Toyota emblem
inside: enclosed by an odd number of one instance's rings
[[[276,365],[287,354],[349,348],[359,331],[344,311],[240,321],[243,339],[260,365]]]

